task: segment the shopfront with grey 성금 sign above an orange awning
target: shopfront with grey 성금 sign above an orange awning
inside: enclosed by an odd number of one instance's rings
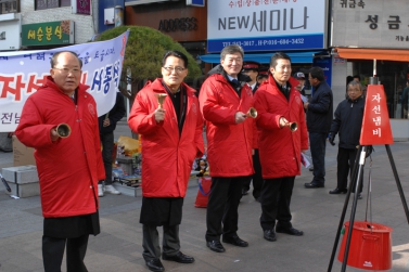
[[[384,86],[393,137],[408,141],[409,4],[407,0],[332,0],[333,85],[345,92],[346,77],[363,85],[376,76]]]

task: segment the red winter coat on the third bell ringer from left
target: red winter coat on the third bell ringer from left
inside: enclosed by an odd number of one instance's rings
[[[244,177],[253,170],[253,125],[247,117],[235,124],[235,113],[253,107],[252,88],[244,83],[241,98],[220,74],[209,76],[202,85],[199,101],[206,120],[207,160],[212,177]]]

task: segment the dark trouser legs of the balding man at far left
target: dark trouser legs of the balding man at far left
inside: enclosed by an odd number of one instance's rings
[[[53,238],[42,236],[42,261],[44,272],[61,272],[65,245],[67,248],[67,272],[87,272],[84,263],[89,234],[76,238]]]

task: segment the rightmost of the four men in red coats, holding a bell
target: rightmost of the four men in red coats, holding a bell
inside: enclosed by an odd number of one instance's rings
[[[276,232],[301,236],[291,223],[290,203],[295,176],[301,174],[302,153],[308,150],[307,126],[298,81],[291,78],[291,59],[276,53],[270,60],[268,83],[254,98],[258,148],[264,183],[260,224],[265,239],[276,241]],[[297,128],[291,129],[291,122]],[[276,224],[277,222],[277,224]],[[276,232],[274,232],[276,228]]]

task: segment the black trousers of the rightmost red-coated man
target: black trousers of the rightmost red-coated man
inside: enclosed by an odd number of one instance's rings
[[[315,166],[314,166],[315,167]],[[273,230],[276,220],[282,228],[291,228],[290,203],[295,177],[266,179],[263,183],[260,224],[264,231]]]

